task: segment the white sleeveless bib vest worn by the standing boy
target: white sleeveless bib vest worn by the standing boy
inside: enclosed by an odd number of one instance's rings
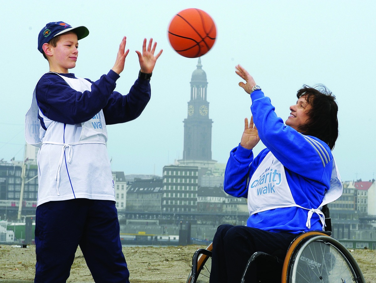
[[[91,90],[91,82],[86,79],[61,78],[76,91]],[[38,113],[47,130],[41,126]],[[30,145],[40,147],[37,156],[38,205],[73,198],[115,201],[102,110],[84,123],[59,123],[42,114],[34,90],[25,119],[25,139]]]

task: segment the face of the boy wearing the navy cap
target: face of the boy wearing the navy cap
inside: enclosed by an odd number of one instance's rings
[[[50,72],[68,73],[68,70],[76,67],[78,56],[78,40],[74,32],[60,35],[56,47],[50,45],[52,56],[49,57]]]

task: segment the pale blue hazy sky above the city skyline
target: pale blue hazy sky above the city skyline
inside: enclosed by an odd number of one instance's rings
[[[376,170],[376,4],[373,1],[2,1],[0,8],[0,159],[22,160],[24,115],[48,63],[37,50],[50,21],[84,25],[76,76],[92,81],[114,65],[121,38],[130,53],[117,91],[127,94],[139,71],[135,50],[144,38],[163,49],[151,79],[152,99],[141,116],[108,126],[112,170],[162,175],[183,155],[183,120],[197,58],[178,55],[167,28],[177,12],[199,8],[214,19],[217,40],[201,57],[208,79],[212,159],[226,163],[250,117],[250,98],[238,86],[243,65],[286,120],[303,84],[326,85],[337,97],[340,135],[334,149],[343,180],[374,178]],[[259,143],[255,152],[264,146]]]

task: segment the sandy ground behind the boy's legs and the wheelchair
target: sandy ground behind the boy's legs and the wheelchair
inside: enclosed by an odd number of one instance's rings
[[[194,251],[204,246],[124,247],[131,283],[185,283]],[[351,250],[367,283],[376,283],[376,250]],[[35,246],[0,246],[0,281],[29,280],[35,272]],[[94,282],[78,249],[67,282]]]

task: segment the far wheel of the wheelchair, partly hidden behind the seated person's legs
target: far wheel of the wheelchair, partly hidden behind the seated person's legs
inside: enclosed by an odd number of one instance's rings
[[[200,250],[206,250],[206,251],[211,252],[212,249],[213,249],[212,243],[210,243],[210,245],[207,246],[205,249],[200,249]],[[210,271],[211,271],[211,256],[200,252],[200,250],[197,250],[193,256],[193,261],[197,260],[197,269],[196,269],[196,274],[194,274],[194,280],[196,283],[208,283],[209,277],[210,277]],[[194,263],[192,263],[192,266],[194,266]],[[193,279],[192,277],[193,276],[192,276],[192,271],[191,271],[190,274],[188,275],[188,279],[186,283],[191,283],[191,280]]]

